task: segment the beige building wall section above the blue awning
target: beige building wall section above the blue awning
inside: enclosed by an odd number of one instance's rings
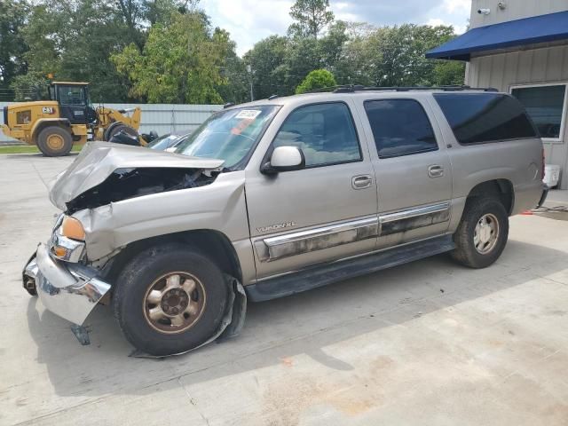
[[[505,5],[505,9],[499,8],[500,3]],[[479,14],[477,13],[479,9],[491,9],[491,13]],[[485,27],[508,20],[564,12],[566,9],[568,9],[568,0],[473,0],[469,27]]]

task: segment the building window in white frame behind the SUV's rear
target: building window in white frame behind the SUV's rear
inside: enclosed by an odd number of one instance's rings
[[[539,130],[540,138],[560,138],[566,96],[564,84],[519,87],[511,90],[511,94],[525,106]]]

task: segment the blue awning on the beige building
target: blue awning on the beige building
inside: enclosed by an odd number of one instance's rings
[[[430,59],[469,60],[471,53],[568,39],[568,11],[470,29],[426,53]]]

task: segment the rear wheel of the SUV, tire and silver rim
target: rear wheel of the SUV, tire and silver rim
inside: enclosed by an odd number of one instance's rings
[[[501,256],[508,238],[509,215],[501,201],[475,197],[466,202],[451,256],[470,268],[486,268]]]

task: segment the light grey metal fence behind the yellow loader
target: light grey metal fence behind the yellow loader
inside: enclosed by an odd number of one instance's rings
[[[0,108],[10,102],[0,102]],[[94,105],[99,106],[99,105]],[[210,114],[223,108],[221,105],[182,105],[182,104],[104,104],[115,109],[128,109],[139,106],[142,109],[140,133],[154,130],[163,135],[176,130],[193,130],[208,119]],[[0,143],[15,142],[0,130]]]

